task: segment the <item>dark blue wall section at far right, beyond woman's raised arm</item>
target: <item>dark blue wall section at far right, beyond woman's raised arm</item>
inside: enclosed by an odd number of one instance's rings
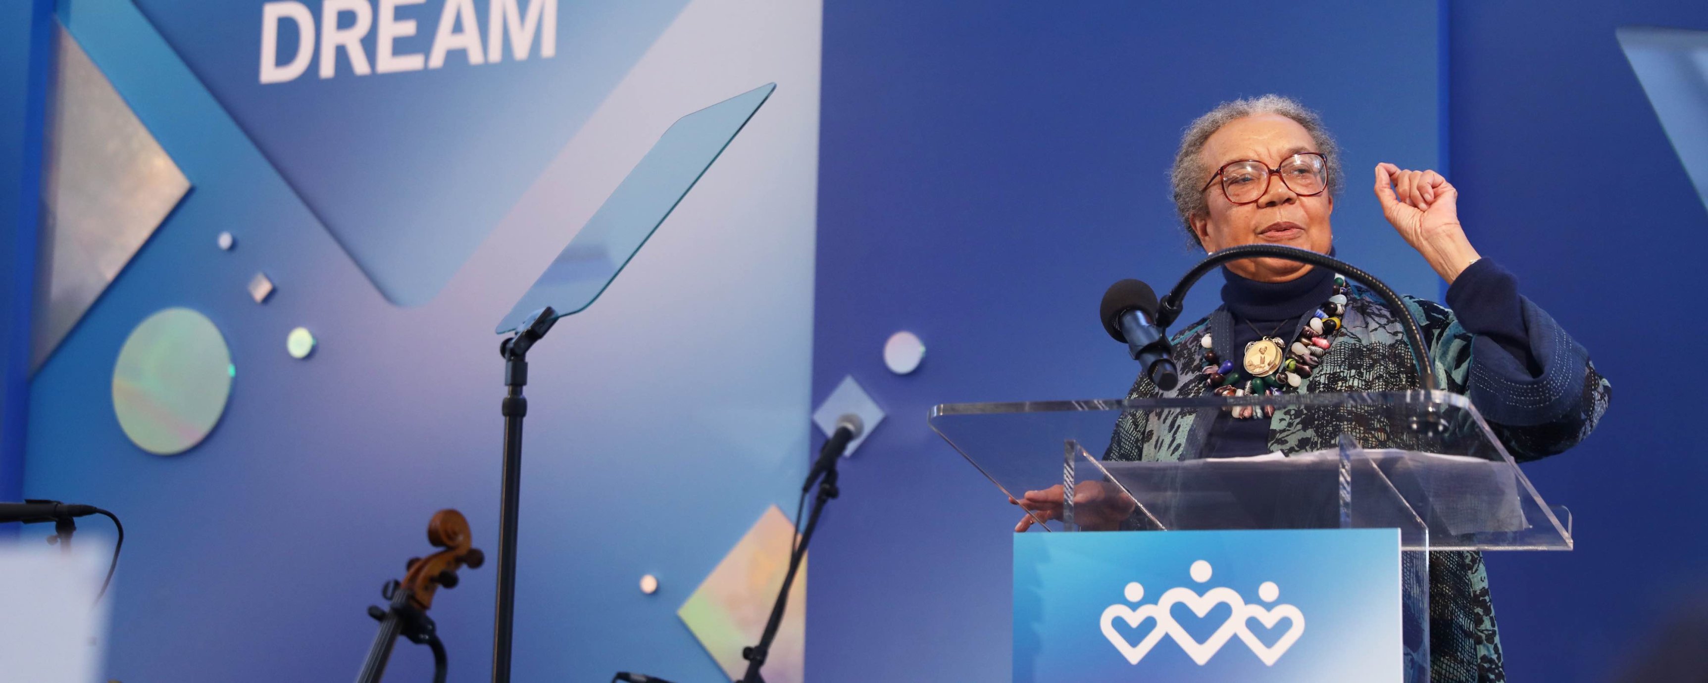
[[[1614,401],[1582,447],[1530,464],[1575,512],[1576,550],[1498,553],[1489,575],[1512,680],[1590,681],[1703,596],[1708,213],[1614,39],[1708,29],[1696,2],[1459,2],[1450,20],[1454,183],[1486,256],[1570,330]],[[1698,647],[1701,647],[1698,644]]]

